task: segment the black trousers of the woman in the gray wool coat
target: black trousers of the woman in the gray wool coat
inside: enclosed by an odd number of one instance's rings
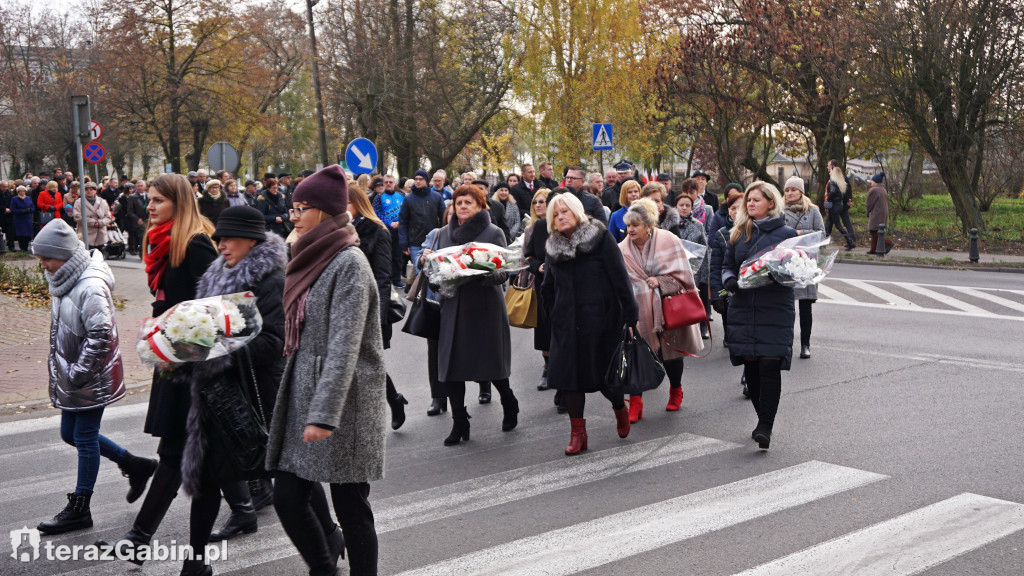
[[[291,472],[278,471],[273,485],[273,507],[288,537],[309,566],[310,575],[336,574],[323,513],[311,500],[316,483]],[[377,576],[377,530],[370,507],[370,483],[331,484],[331,500],[345,535],[349,574]]]

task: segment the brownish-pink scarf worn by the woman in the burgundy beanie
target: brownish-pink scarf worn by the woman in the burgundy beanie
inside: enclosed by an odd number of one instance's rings
[[[344,212],[324,220],[292,245],[292,261],[285,273],[285,356],[299,347],[309,288],[338,252],[359,244],[351,219]]]

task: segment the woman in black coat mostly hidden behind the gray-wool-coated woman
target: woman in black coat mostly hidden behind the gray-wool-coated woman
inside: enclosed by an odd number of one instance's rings
[[[352,215],[352,225],[359,235],[359,249],[370,261],[374,280],[381,298],[381,336],[384,349],[391,347],[391,321],[388,310],[391,305],[391,232],[377,217],[370,199],[357,186],[348,189],[348,212]],[[398,429],[406,423],[406,405],[409,401],[398,394],[390,374],[387,381],[387,404],[391,408],[391,429]]]

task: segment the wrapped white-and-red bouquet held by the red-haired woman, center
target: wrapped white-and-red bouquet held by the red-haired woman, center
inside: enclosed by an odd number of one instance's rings
[[[526,268],[522,250],[486,242],[470,242],[432,252],[423,264],[430,283],[442,297],[455,296],[458,287],[471,278],[515,273]]]

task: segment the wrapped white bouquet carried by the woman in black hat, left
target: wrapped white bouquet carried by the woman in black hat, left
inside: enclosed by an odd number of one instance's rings
[[[151,365],[203,362],[240,349],[262,328],[252,292],[185,300],[143,320],[135,351]]]

